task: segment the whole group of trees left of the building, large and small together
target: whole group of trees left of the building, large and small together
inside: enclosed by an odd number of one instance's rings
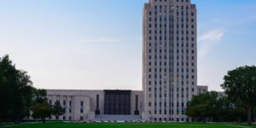
[[[26,71],[16,69],[9,55],[0,58],[0,124],[20,123],[30,116],[45,121],[50,115],[59,116],[64,111],[60,102],[49,105],[46,90],[34,88],[31,77]]]

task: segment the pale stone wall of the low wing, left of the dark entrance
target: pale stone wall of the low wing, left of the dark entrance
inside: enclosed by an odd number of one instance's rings
[[[54,105],[56,101],[60,101],[61,106],[66,108],[66,113],[60,116],[59,119],[76,121],[94,119],[96,95],[99,95],[99,108],[101,113],[104,110],[103,90],[47,90],[47,95],[48,101],[51,101],[52,105]],[[64,101],[66,101],[66,105],[64,105]],[[83,106],[81,106],[81,102],[84,103]],[[83,112],[81,112],[81,109],[83,109]],[[52,116],[51,119],[56,118]]]

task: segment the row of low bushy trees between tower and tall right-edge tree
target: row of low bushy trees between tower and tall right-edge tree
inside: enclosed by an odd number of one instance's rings
[[[241,101],[233,102],[228,96],[218,97],[216,91],[194,96],[188,103],[186,114],[195,122],[247,121],[247,110]],[[253,109],[253,117],[255,116],[256,108]]]

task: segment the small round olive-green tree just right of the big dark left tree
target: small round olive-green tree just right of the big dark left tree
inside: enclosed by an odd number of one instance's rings
[[[45,119],[49,118],[52,113],[52,108],[49,106],[49,103],[38,102],[32,107],[32,117],[35,119],[42,119],[43,123],[45,123]]]

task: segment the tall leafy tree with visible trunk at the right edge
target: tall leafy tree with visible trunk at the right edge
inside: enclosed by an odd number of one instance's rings
[[[238,67],[224,76],[221,87],[234,101],[241,101],[247,109],[247,124],[251,125],[252,110],[256,97],[256,67]]]

